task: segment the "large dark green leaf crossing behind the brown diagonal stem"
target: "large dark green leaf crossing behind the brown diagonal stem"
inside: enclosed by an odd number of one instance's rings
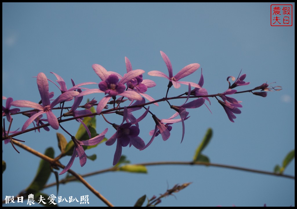
[[[54,158],[53,148],[49,147],[48,149],[46,149],[45,155],[50,158]],[[30,186],[26,189],[28,194],[30,193],[34,194],[42,190],[43,186],[46,184],[46,182],[48,181],[48,178],[50,177],[50,173],[51,173],[50,163],[48,161],[41,159],[34,180],[30,184]]]

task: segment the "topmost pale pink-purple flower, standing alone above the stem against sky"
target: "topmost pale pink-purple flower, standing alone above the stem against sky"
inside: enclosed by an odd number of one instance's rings
[[[200,67],[200,65],[198,63],[193,63],[190,65],[187,65],[186,67],[181,69],[175,76],[173,76],[172,66],[171,66],[171,62],[170,62],[168,56],[162,51],[160,51],[160,53],[161,53],[161,56],[168,68],[169,77],[165,73],[162,73],[158,70],[150,71],[148,73],[150,76],[159,76],[159,77],[167,78],[169,80],[168,87],[171,87],[173,85],[174,88],[179,88],[179,87],[181,87],[180,84],[186,84],[186,85],[191,84],[192,87],[200,88],[200,86],[198,84],[195,84],[193,82],[179,81],[181,78],[184,78],[184,77],[194,73]]]

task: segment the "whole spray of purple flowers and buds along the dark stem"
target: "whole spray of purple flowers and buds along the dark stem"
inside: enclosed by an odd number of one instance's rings
[[[107,71],[101,65],[94,64],[92,65],[92,68],[94,72],[97,74],[97,76],[99,76],[101,81],[99,81],[98,83],[84,82],[84,83],[75,85],[74,81],[71,79],[72,87],[70,89],[67,89],[64,79],[61,78],[61,76],[59,76],[58,74],[51,72],[54,76],[56,76],[57,78],[56,82],[59,85],[57,85],[55,82],[48,79],[44,73],[39,73],[37,75],[37,87],[40,93],[41,102],[35,103],[28,100],[13,101],[12,98],[6,98],[2,96],[2,99],[7,99],[6,106],[5,107],[2,106],[2,117],[6,116],[7,120],[11,122],[11,118],[12,118],[11,116],[14,114],[17,114],[20,111],[20,109],[18,108],[11,109],[11,106],[27,107],[27,108],[33,109],[30,111],[23,112],[23,114],[28,116],[29,119],[27,119],[26,122],[24,122],[20,133],[26,131],[31,123],[33,123],[34,127],[36,126],[36,128],[32,128],[32,130],[37,129],[38,131],[40,131],[40,128],[44,128],[45,131],[49,131],[50,127],[57,130],[61,126],[60,123],[63,122],[62,119],[66,117],[75,117],[73,119],[79,121],[86,129],[89,139],[85,141],[80,141],[63,128],[63,130],[71,136],[72,142],[74,143],[74,150],[69,163],[67,164],[67,166],[65,166],[65,168],[60,173],[60,175],[67,172],[70,169],[70,167],[74,162],[75,157],[79,157],[81,166],[85,165],[86,153],[82,145],[91,146],[91,145],[96,145],[99,142],[102,142],[102,140],[105,137],[105,134],[108,131],[108,128],[106,128],[99,135],[95,137],[91,137],[91,132],[89,131],[88,125],[84,123],[84,120],[83,120],[84,117],[93,117],[95,114],[102,115],[104,120],[108,124],[112,125],[113,128],[116,129],[116,131],[113,132],[111,137],[106,141],[106,145],[108,146],[111,146],[116,142],[116,151],[114,154],[113,165],[116,165],[119,162],[119,159],[122,153],[122,147],[127,147],[129,144],[129,147],[133,145],[138,150],[144,150],[153,142],[154,138],[157,137],[158,135],[161,135],[162,139],[166,141],[170,137],[170,131],[173,129],[172,125],[177,122],[181,122],[181,125],[182,125],[182,136],[181,136],[181,142],[182,142],[185,135],[185,120],[187,120],[190,117],[189,116],[190,113],[188,112],[189,111],[188,109],[199,108],[200,106],[205,104],[206,100],[210,105],[211,102],[209,100],[209,97],[215,97],[224,108],[229,120],[231,122],[234,122],[234,119],[236,118],[235,114],[241,113],[241,110],[239,108],[241,108],[242,105],[240,104],[241,101],[238,101],[235,98],[230,97],[230,95],[239,93],[234,88],[249,84],[249,82],[244,81],[244,79],[246,78],[246,74],[243,74],[242,76],[240,76],[239,74],[237,79],[235,79],[235,77],[233,76],[229,76],[227,78],[229,87],[225,92],[219,93],[216,95],[209,95],[207,90],[203,88],[204,78],[202,75],[202,69],[201,69],[200,79],[197,84],[190,81],[181,81],[182,78],[185,78],[191,75],[192,73],[194,73],[196,70],[198,70],[198,68],[200,67],[198,63],[193,63],[185,66],[175,76],[173,76],[173,69],[168,56],[162,51],[160,53],[161,53],[162,59],[166,64],[168,75],[158,70],[153,70],[148,73],[148,75],[150,76],[163,77],[168,79],[169,81],[166,96],[160,100],[155,100],[153,97],[147,94],[148,89],[155,87],[156,83],[152,80],[144,79],[144,75],[143,75],[143,73],[145,73],[144,70],[140,70],[140,69],[132,70],[131,62],[127,57],[125,57],[127,73],[125,73],[123,76],[113,71]],[[230,78],[231,80],[234,81],[233,84],[230,83],[229,81]],[[53,92],[49,92],[48,81],[55,84],[61,91],[61,94],[58,95],[55,99],[52,99],[52,101],[51,101],[51,98],[54,97],[54,94]],[[97,88],[88,89],[88,88],[82,87],[90,84],[97,84]],[[175,88],[180,88],[181,87],[180,84],[185,84],[188,86],[187,92],[184,94],[186,95],[186,97],[184,97],[183,95],[180,95],[175,98],[168,98],[167,94],[168,94],[169,88],[171,86]],[[275,88],[273,89],[280,90]],[[257,92],[256,90],[261,90],[261,91]],[[255,95],[266,97],[267,92],[263,92],[263,91],[271,91],[271,88],[269,88],[268,84],[262,84],[259,87],[249,90],[249,92],[252,92]],[[80,105],[83,100],[83,96],[90,95],[93,93],[104,93],[104,96],[97,99],[99,101],[98,103],[97,103],[97,100],[95,100],[94,98],[91,101],[87,102],[86,104]],[[184,103],[182,105],[173,105],[170,103],[173,99],[183,99]],[[190,99],[191,101],[189,101]],[[146,103],[146,100],[148,100],[147,103]],[[67,112],[63,114],[63,110],[66,109],[64,108],[64,103],[70,102],[70,101],[72,101],[71,108],[68,107]],[[159,119],[152,112],[153,111],[152,108],[150,110],[149,104],[155,104],[158,106],[157,102],[160,102],[160,101],[167,101],[167,103],[169,104],[169,107],[173,110],[174,114],[168,119]],[[59,108],[55,108],[58,104],[60,105]],[[90,111],[90,108],[92,106],[97,106],[97,112],[95,114],[93,114]],[[142,108],[145,109],[143,110],[144,112],[142,111],[141,116],[136,118],[133,115],[134,112],[136,111],[140,112]],[[59,109],[59,117],[57,117],[54,114],[54,109]],[[113,123],[113,122],[109,122],[105,118],[104,115],[110,114],[110,113],[116,113],[122,117],[122,122],[120,125],[117,125],[116,123]],[[43,114],[46,115],[46,118],[42,118]],[[155,128],[154,130],[151,130],[148,133],[151,136],[151,139],[146,144],[146,142],[140,137],[139,123],[148,114],[151,114],[152,116],[151,121],[154,121]],[[176,118],[177,116],[179,117]],[[4,132],[2,132],[2,136],[6,137],[6,135],[5,134],[3,135],[3,133]],[[10,132],[10,133],[15,133],[15,132]]]

